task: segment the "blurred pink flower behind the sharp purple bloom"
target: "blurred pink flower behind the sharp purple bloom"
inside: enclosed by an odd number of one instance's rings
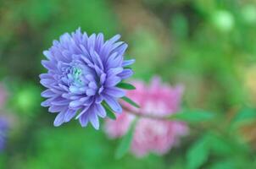
[[[149,86],[141,81],[132,84],[136,86],[136,90],[128,91],[127,96],[136,101],[141,108],[137,109],[123,103],[132,112],[123,112],[115,121],[107,119],[105,131],[110,138],[119,138],[126,134],[135,119],[133,113],[164,117],[180,109],[182,86],[171,87],[161,84],[159,78],[154,78]],[[149,152],[163,155],[178,144],[180,136],[186,135],[187,132],[185,123],[140,117],[136,123],[131,152],[138,157]]]

